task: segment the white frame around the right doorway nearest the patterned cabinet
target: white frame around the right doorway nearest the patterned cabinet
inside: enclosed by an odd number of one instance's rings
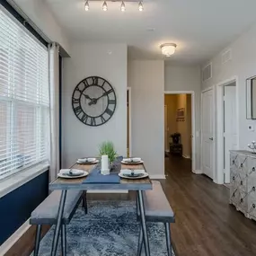
[[[235,82],[237,147],[239,148],[239,94],[238,77],[233,76],[216,84],[216,183],[224,184],[224,86]]]

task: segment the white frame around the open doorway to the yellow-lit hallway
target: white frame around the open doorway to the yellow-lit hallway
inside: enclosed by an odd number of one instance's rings
[[[164,95],[166,94],[190,94],[191,95],[191,135],[192,135],[192,172],[198,173],[196,171],[196,142],[195,142],[195,127],[196,127],[196,114],[195,114],[195,92],[194,91],[163,91],[163,102]],[[164,103],[163,103],[164,105]],[[164,108],[163,108],[164,111]],[[163,113],[164,114],[164,113]],[[164,129],[164,124],[163,124]]]

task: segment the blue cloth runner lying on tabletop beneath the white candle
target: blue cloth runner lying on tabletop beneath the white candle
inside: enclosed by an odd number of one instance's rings
[[[117,173],[110,173],[109,175],[102,175],[101,167],[95,167],[87,176],[83,183],[119,183],[120,178]]]

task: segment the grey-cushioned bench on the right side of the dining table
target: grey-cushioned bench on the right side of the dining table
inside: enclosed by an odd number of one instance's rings
[[[165,226],[166,245],[168,256],[172,256],[171,228],[170,223],[175,222],[175,216],[168,199],[163,192],[159,181],[152,181],[153,190],[144,191],[145,217],[148,222],[163,222]],[[140,218],[137,211],[137,217]],[[137,256],[141,255],[143,246],[142,228],[140,230]]]

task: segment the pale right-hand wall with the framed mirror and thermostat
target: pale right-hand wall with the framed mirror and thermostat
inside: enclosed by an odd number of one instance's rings
[[[211,62],[213,65],[213,77],[202,84],[202,90],[222,83],[227,79],[237,76],[238,79],[238,119],[239,119],[239,148],[248,149],[247,145],[256,140],[256,130],[248,131],[248,125],[253,125],[256,129],[256,120],[246,119],[246,98],[245,98],[245,80],[256,75],[256,25],[250,31],[245,32],[238,40],[235,40],[226,49],[232,50],[232,60],[222,64],[221,51]],[[208,63],[208,62],[207,62]],[[216,159],[217,161],[217,159]]]

